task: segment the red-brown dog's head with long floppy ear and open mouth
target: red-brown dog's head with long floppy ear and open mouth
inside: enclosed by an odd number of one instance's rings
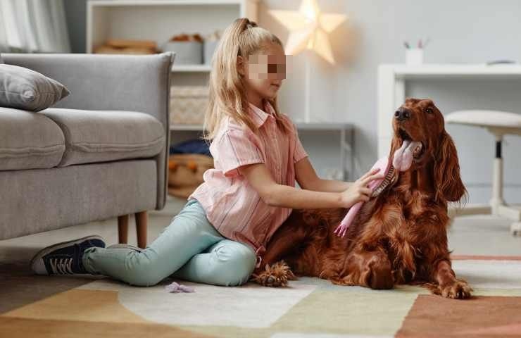
[[[436,199],[459,201],[465,194],[460,178],[458,153],[451,136],[445,131],[441,111],[430,99],[406,99],[393,117],[394,138],[391,154],[403,141],[419,142],[413,151],[410,170],[433,168]]]

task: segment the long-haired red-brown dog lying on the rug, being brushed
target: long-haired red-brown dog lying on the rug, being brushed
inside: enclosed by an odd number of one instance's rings
[[[395,170],[393,182],[363,204],[346,237],[334,234],[346,209],[294,210],[270,239],[253,280],[279,287],[295,273],[372,289],[421,284],[445,297],[470,297],[447,246],[447,203],[460,201],[466,190],[444,117],[432,100],[407,99],[392,125],[389,156],[404,140],[421,142],[411,167]]]

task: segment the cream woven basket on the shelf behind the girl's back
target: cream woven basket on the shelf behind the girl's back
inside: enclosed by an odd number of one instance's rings
[[[208,105],[208,87],[172,86],[170,125],[202,125]]]

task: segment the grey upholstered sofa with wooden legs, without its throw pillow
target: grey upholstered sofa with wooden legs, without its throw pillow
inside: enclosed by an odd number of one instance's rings
[[[136,213],[165,204],[173,54],[2,54],[71,94],[39,113],[0,107],[0,239],[118,216],[126,242]]]

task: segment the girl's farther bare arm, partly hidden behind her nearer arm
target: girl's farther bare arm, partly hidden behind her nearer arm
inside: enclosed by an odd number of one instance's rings
[[[315,169],[307,156],[295,163],[295,176],[296,182],[299,182],[302,189],[314,190],[315,192],[344,192],[353,184],[353,182],[322,180],[315,173]]]

